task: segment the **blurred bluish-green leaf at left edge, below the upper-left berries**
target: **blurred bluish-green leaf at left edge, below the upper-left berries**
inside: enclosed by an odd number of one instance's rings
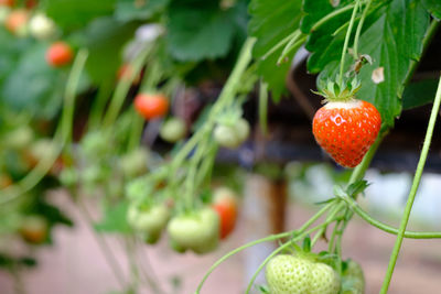
[[[2,102],[37,118],[53,118],[63,101],[65,73],[51,68],[44,58],[47,46],[35,44],[26,51],[4,80]]]

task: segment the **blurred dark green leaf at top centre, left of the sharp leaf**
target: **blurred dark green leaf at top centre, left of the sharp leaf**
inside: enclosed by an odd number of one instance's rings
[[[220,10],[217,1],[173,1],[169,12],[169,51],[179,61],[227,55],[235,35],[236,10]]]

